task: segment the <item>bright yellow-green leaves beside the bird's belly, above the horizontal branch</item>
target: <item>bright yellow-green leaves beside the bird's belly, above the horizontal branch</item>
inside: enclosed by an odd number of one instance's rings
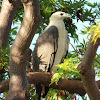
[[[58,70],[52,76],[51,84],[54,82],[57,84],[60,78],[62,79],[79,78],[80,74],[77,70],[77,65],[79,64],[79,62],[80,59],[78,56],[74,58],[64,59],[64,63],[57,65]]]

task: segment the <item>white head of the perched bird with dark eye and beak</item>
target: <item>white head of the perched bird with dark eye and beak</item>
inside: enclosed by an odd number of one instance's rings
[[[66,18],[70,18],[70,15],[65,12],[57,11],[51,15],[50,21],[51,20],[63,20]]]

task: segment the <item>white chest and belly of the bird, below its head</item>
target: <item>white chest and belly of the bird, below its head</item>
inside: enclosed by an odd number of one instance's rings
[[[66,51],[68,49],[67,41],[66,41],[68,37],[68,33],[65,30],[65,25],[63,22],[56,22],[56,23],[53,23],[53,25],[58,28],[58,32],[59,32],[58,49],[57,49],[54,64],[52,67],[52,71],[54,72],[57,69],[56,65],[60,64],[62,58],[66,55]]]

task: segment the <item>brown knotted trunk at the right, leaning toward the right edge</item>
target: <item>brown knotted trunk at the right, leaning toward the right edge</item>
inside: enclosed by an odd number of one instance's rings
[[[95,72],[94,69],[92,68],[97,48],[100,45],[100,39],[98,39],[96,44],[94,44],[94,42],[92,41],[92,37],[93,34],[91,35],[89,44],[86,49],[86,53],[84,55],[81,64],[79,64],[78,69],[80,70],[84,88],[88,93],[90,99],[100,100],[99,87],[95,82]]]

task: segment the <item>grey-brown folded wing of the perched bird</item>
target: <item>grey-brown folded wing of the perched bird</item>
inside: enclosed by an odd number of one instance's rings
[[[50,26],[39,36],[33,51],[33,71],[50,71],[58,48],[58,37],[55,26]]]

